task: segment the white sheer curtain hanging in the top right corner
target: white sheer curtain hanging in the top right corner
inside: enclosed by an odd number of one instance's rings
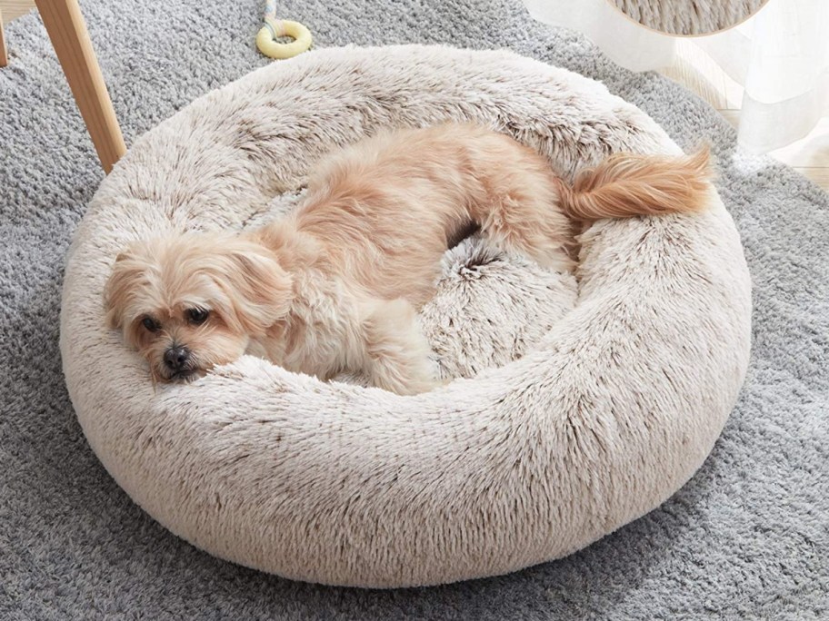
[[[523,0],[535,19],[586,34],[628,69],[673,64],[672,36],[635,24],[607,0]],[[742,25],[694,37],[744,87],[739,141],[772,151],[829,114],[829,0],[770,0]]]

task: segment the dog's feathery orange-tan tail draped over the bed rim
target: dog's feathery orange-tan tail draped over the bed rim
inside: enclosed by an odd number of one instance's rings
[[[564,212],[577,220],[699,212],[713,177],[705,146],[681,157],[618,153],[561,184]]]

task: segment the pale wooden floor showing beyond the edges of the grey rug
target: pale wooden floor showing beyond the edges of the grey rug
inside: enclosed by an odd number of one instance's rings
[[[25,15],[34,7],[34,0],[0,0],[0,13],[3,14],[5,23]],[[6,37],[6,44],[11,46],[14,42],[8,41]],[[725,75],[707,54],[693,44],[693,40],[680,39],[678,52],[674,65],[662,73],[701,96],[723,114],[729,123],[736,126],[740,119],[740,102],[743,97],[740,85]],[[10,59],[10,62],[13,63],[14,59]],[[824,118],[803,140],[770,155],[793,166],[829,190],[829,119]]]

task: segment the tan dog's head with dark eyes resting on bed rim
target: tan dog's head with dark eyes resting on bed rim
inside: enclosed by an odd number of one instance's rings
[[[236,360],[291,301],[291,278],[275,254],[230,234],[137,242],[118,255],[105,288],[108,326],[123,330],[162,381]]]

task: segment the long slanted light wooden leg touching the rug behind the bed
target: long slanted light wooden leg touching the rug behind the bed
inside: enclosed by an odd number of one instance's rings
[[[66,82],[84,117],[105,173],[126,151],[124,136],[98,66],[77,0],[35,0]]]

